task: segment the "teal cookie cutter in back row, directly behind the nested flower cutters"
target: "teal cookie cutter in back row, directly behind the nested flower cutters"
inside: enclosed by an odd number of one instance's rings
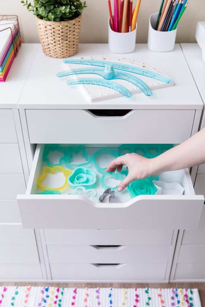
[[[86,162],[80,164],[73,164],[72,163],[73,153],[79,154],[80,152],[82,153],[82,156],[85,158]],[[65,157],[61,159],[61,162],[65,163],[67,169],[75,169],[77,167],[91,166],[92,157],[87,154],[85,146],[67,147],[66,153],[67,154],[65,155]]]

